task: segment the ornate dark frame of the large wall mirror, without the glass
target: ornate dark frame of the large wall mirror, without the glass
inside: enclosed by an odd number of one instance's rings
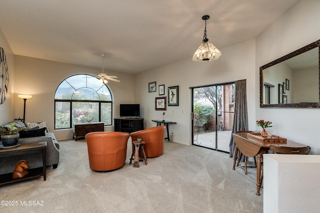
[[[316,47],[318,48],[318,66],[319,66],[319,101],[318,103],[290,103],[290,104],[263,104],[263,88],[264,88],[264,80],[263,80],[263,70],[273,66],[277,63],[280,63],[282,61],[285,61],[289,58],[292,58],[294,56],[297,56],[299,54],[302,54],[304,52],[307,52],[311,49],[314,49]],[[300,49],[297,49],[287,55],[284,55],[283,57],[280,57],[274,61],[271,61],[270,63],[267,63],[263,66],[260,67],[260,108],[285,108],[285,107],[290,107],[290,108],[318,108],[320,107],[320,40],[314,41]]]

